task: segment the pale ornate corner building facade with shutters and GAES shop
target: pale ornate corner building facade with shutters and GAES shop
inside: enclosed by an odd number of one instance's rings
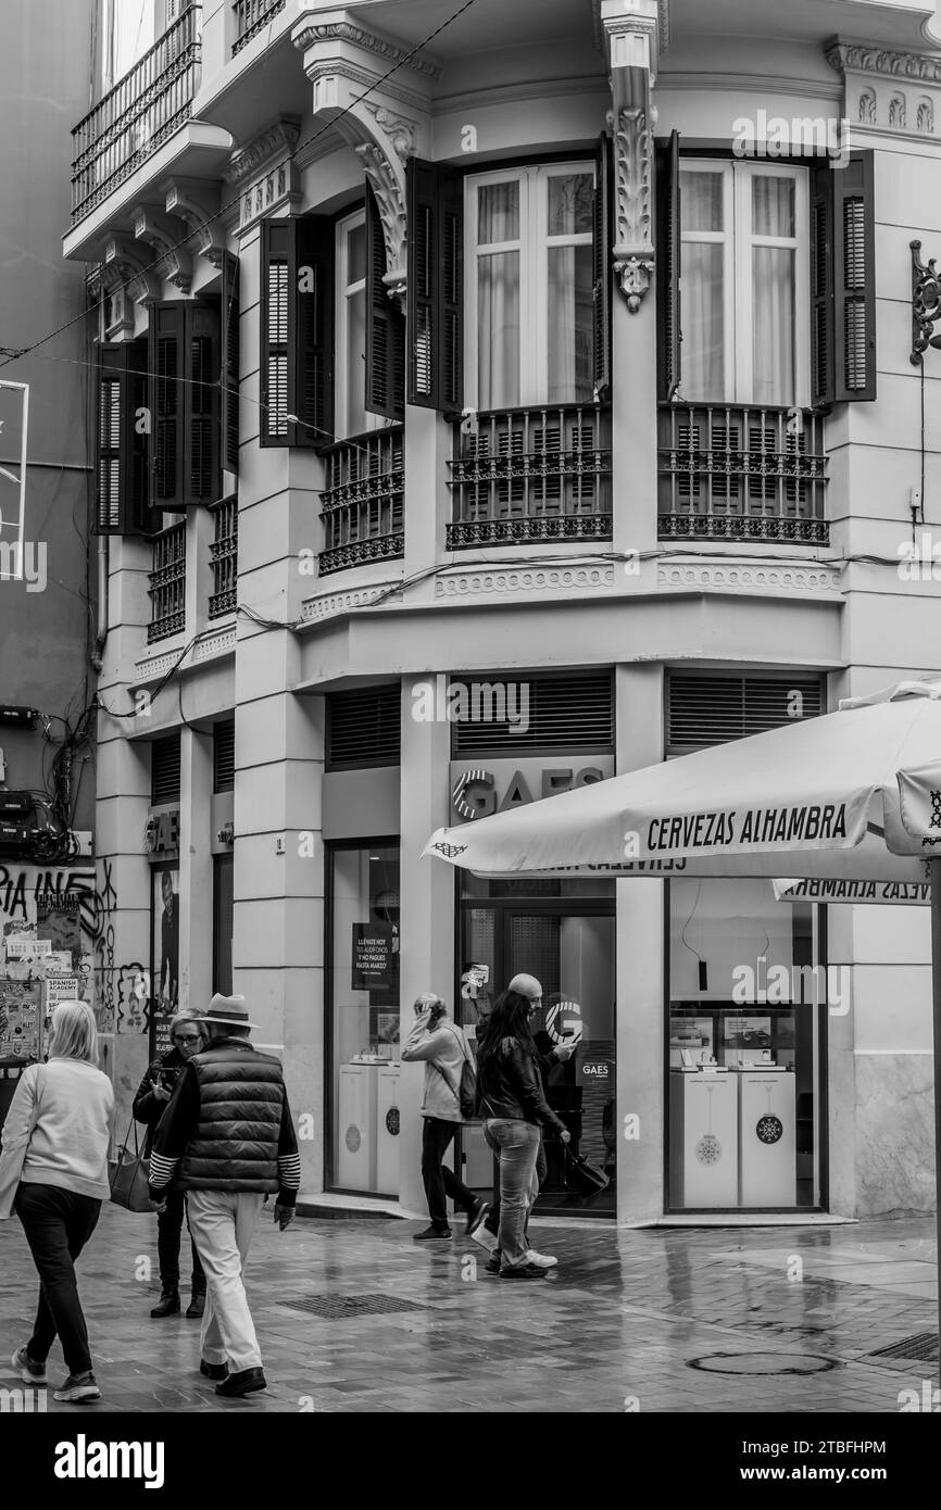
[[[411,1003],[473,1030],[527,969],[592,1211],[930,1208],[920,897],[420,856],[938,670],[932,18],[159,9],[76,127],[65,236],[100,310],[98,864],[113,978],[150,985],[125,1101],[174,1004],[240,991],[304,1191],[415,1211]]]

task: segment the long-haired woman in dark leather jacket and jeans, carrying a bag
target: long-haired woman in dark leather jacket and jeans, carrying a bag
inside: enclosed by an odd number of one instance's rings
[[[526,1241],[526,1220],[539,1193],[536,1157],[539,1129],[551,1128],[569,1142],[565,1123],[545,1099],[539,1052],[530,1019],[539,998],[506,991],[494,1004],[477,1052],[477,1089],[485,1117],[483,1136],[500,1161],[500,1277],[545,1279]]]

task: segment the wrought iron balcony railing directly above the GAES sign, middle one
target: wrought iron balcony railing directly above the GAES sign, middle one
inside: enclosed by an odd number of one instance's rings
[[[560,405],[455,426],[447,550],[610,541],[610,409]]]

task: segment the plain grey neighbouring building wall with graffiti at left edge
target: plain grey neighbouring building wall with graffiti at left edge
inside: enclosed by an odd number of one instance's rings
[[[60,257],[62,119],[88,109],[91,33],[91,0],[38,0],[5,17],[0,56],[0,1060],[14,1071],[44,1051],[57,1000],[98,1006],[103,963],[95,384],[85,269]],[[98,1021],[110,1063],[115,1024]],[[5,1075],[0,1119],[12,1092]]]

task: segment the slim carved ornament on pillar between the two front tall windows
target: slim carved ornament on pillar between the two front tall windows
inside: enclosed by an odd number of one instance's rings
[[[615,272],[627,308],[636,314],[654,270],[654,137],[645,76],[640,69],[631,69],[630,74],[633,98],[630,89],[619,88],[615,76],[615,110],[609,121],[615,142]]]

